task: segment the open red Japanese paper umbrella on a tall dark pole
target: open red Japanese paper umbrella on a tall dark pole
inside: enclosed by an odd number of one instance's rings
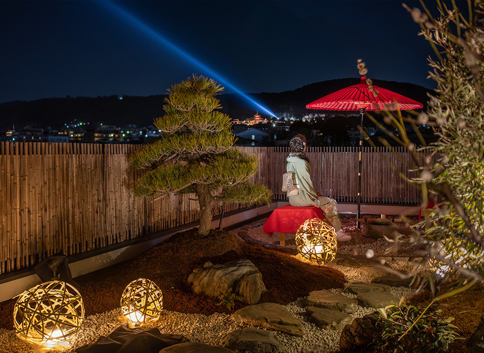
[[[378,93],[375,94],[375,91]],[[306,108],[308,109],[359,110],[361,114],[361,129],[363,128],[363,115],[365,114],[366,110],[410,110],[420,109],[422,107],[423,104],[385,88],[373,86],[373,91],[371,91],[370,86],[367,84],[366,77],[361,77],[361,82],[357,85],[340,89],[306,105]],[[358,209],[356,211],[356,218],[359,218],[361,202],[362,153],[363,134],[360,132],[358,163]]]

